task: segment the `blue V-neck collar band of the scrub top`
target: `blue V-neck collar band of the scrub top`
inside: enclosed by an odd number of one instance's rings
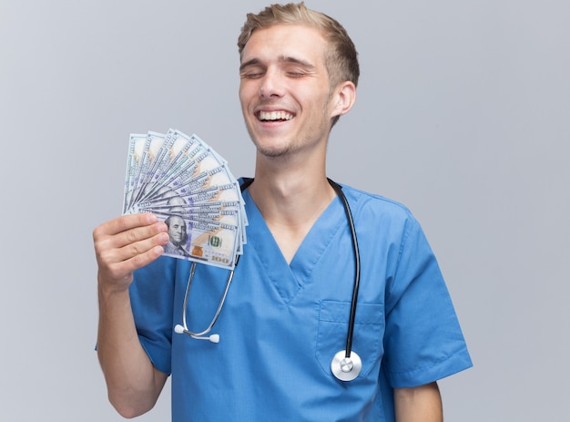
[[[288,264],[248,190],[243,192],[243,197],[249,220],[246,229],[249,246],[244,253],[255,252],[259,256],[264,273],[274,283],[281,298],[289,303],[305,283],[310,283],[315,265],[331,246],[336,233],[345,227],[346,216],[341,199],[335,197],[322,211]]]

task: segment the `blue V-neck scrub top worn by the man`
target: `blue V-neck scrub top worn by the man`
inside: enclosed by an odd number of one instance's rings
[[[249,219],[219,344],[174,334],[191,262],[161,257],[135,274],[140,341],[172,375],[172,420],[393,421],[394,387],[421,386],[472,365],[442,274],[418,222],[401,204],[346,186],[361,252],[352,350],[362,371],[331,374],[344,350],[354,282],[351,232],[339,198],[288,264],[244,192]],[[188,328],[205,329],[229,271],[198,264]]]

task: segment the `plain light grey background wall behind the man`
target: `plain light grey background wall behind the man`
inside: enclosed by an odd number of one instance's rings
[[[306,3],[361,58],[330,176],[408,205],[453,295],[475,366],[440,383],[446,420],[567,420],[570,3]],[[0,0],[1,420],[122,420],[91,232],[121,210],[131,132],[196,132],[252,174],[235,45],[265,5]],[[167,388],[139,420],[168,418]]]

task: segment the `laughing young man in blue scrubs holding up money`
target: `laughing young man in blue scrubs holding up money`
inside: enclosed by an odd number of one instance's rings
[[[227,272],[198,265],[183,311],[190,262],[159,258],[166,225],[148,214],[102,224],[97,350],[110,401],[125,417],[144,413],[171,374],[175,421],[442,420],[436,380],[471,361],[437,262],[406,208],[346,186],[361,261],[351,342],[361,370],[333,375],[355,253],[325,158],[332,125],[356,98],[351,39],[302,4],[272,5],[248,15],[239,54],[257,160],[220,342],[173,327],[183,312],[193,327],[209,324]],[[343,356],[336,371],[350,373]]]

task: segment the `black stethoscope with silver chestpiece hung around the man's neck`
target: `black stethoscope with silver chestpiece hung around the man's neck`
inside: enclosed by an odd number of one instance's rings
[[[240,189],[241,191],[248,189],[249,185],[253,182],[253,179],[244,179],[245,181],[241,184]],[[346,345],[344,350],[339,351],[331,361],[331,372],[333,376],[336,376],[337,379],[341,381],[352,381],[354,378],[359,376],[362,369],[362,361],[361,357],[354,351],[352,351],[352,336],[354,333],[354,321],[356,318],[356,305],[358,303],[358,289],[361,280],[361,257],[360,252],[358,250],[358,242],[356,240],[356,229],[354,228],[354,221],[352,220],[352,213],[351,207],[349,206],[349,201],[347,201],[346,196],[342,192],[341,185],[337,184],[336,182],[328,179],[329,183],[331,184],[332,189],[334,189],[341,198],[342,206],[344,207],[344,211],[346,212],[346,217],[349,222],[349,228],[351,229],[351,238],[352,238],[352,250],[354,252],[354,286],[352,288],[352,300],[351,300],[351,314],[349,319],[349,328],[346,334]],[[236,262],[234,265],[235,267],[238,265],[239,256],[236,257]],[[189,335],[192,338],[198,340],[209,340],[212,343],[219,343],[219,335],[212,334],[209,335],[209,332],[212,330],[214,324],[218,320],[219,314],[224,306],[224,302],[226,301],[226,296],[228,295],[229,291],[229,284],[233,280],[234,270],[229,272],[228,280],[226,281],[226,287],[224,289],[224,293],[222,293],[221,299],[219,300],[218,309],[214,314],[214,317],[211,319],[210,323],[206,327],[206,329],[200,332],[192,332],[188,329],[188,324],[186,321],[186,314],[188,309],[188,294],[190,293],[190,286],[192,284],[192,280],[194,279],[194,273],[196,272],[196,262],[192,262],[190,266],[190,273],[188,275],[188,283],[186,285],[186,293],[184,294],[184,303],[182,304],[182,324],[177,324],[174,327],[174,331],[178,334],[185,334]]]

